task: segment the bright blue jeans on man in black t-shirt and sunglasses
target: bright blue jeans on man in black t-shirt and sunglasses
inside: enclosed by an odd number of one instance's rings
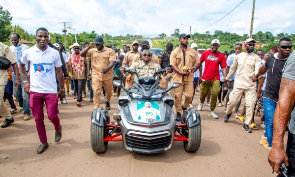
[[[273,115],[276,108],[276,102],[271,99],[263,99],[263,108],[265,110],[265,119],[266,119],[266,137],[268,142],[268,147],[272,147],[272,134],[273,134]]]

